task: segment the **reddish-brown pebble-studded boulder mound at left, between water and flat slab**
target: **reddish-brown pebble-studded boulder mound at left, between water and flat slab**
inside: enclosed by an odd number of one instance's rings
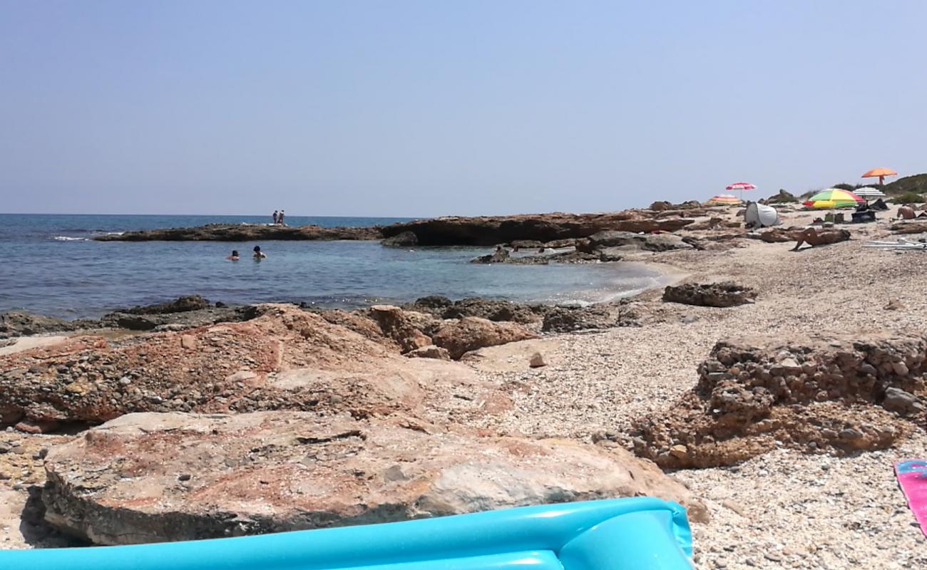
[[[441,408],[455,389],[482,389],[462,364],[402,358],[392,342],[292,305],[261,310],[244,323],[77,336],[0,356],[0,414],[100,423],[129,412],[414,412]]]

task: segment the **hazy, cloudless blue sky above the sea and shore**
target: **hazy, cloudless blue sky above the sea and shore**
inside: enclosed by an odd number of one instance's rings
[[[0,211],[596,211],[927,171],[925,22],[921,0],[0,0]]]

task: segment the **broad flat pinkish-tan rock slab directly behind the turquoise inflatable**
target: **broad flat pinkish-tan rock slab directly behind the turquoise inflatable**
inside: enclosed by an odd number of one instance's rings
[[[52,449],[45,518],[98,544],[385,523],[652,495],[653,463],[575,441],[476,437],[408,417],[138,413]]]

